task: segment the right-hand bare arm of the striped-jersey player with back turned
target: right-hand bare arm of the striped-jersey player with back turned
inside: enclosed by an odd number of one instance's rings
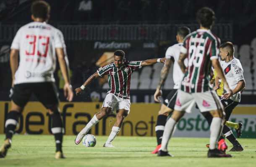
[[[220,64],[219,64],[219,60],[218,60],[218,59],[213,59],[213,60],[212,60],[212,66],[214,67],[214,69],[216,70],[216,72],[217,72],[219,78],[224,82],[224,84],[225,84],[227,90],[229,91],[229,93],[226,95],[226,97],[224,97],[224,99],[227,100],[227,99],[230,98],[230,96],[233,95],[233,92],[232,92],[232,90],[230,89],[230,87],[229,87],[229,85],[228,85],[228,83],[227,83],[227,80],[226,80],[226,78],[225,78],[225,75],[224,75],[224,73],[223,73],[223,71],[222,71],[222,68],[221,68],[221,66],[220,66]],[[216,77],[216,78],[217,78],[217,77]]]

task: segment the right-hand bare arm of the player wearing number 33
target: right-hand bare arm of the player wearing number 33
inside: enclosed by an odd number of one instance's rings
[[[63,87],[64,96],[67,97],[68,101],[72,101],[74,94],[70,86],[70,76],[68,73],[67,62],[65,61],[64,51],[63,51],[63,48],[55,48],[55,50],[56,50],[58,61],[60,64],[60,71],[63,75],[63,79],[65,82]]]

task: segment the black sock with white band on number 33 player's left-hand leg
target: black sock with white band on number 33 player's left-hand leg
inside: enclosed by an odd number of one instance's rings
[[[5,136],[6,139],[12,139],[16,127],[18,127],[18,119],[20,118],[21,113],[18,111],[10,111],[5,122]]]

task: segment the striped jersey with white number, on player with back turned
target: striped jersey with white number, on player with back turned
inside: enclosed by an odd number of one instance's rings
[[[181,82],[182,91],[195,93],[212,90],[209,86],[211,60],[218,58],[219,46],[219,38],[210,30],[199,29],[185,37],[180,52],[188,55],[188,67]]]

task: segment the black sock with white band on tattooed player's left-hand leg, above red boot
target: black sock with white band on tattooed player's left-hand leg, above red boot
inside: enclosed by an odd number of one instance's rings
[[[156,135],[157,135],[157,145],[162,143],[162,136],[165,129],[165,123],[167,121],[167,116],[165,115],[158,115],[157,117],[157,124],[155,127]]]

